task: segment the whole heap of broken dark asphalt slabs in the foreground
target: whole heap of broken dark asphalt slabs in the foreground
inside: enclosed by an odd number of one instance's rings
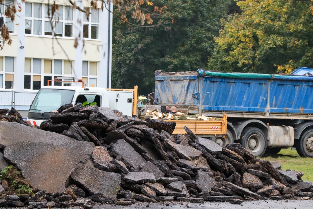
[[[240,144],[222,148],[187,127],[172,136],[175,122],[81,104],[64,105],[50,118],[40,129],[0,122],[0,169],[13,165],[34,194],[12,192],[2,178],[0,207],[313,197],[303,173],[281,170]]]

